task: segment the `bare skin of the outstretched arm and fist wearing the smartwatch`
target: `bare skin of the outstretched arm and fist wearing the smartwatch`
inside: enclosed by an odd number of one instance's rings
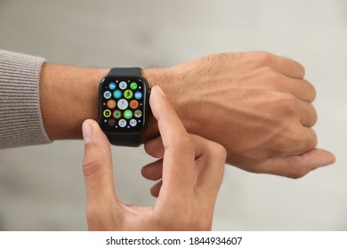
[[[83,121],[97,118],[98,85],[108,72],[44,64],[41,108],[52,140],[78,139]],[[300,178],[335,162],[331,152],[317,148],[316,92],[294,60],[269,52],[229,52],[141,73],[150,86],[166,92],[189,133],[227,149],[230,165]],[[158,135],[151,116],[141,141]],[[161,149],[156,143],[147,148]]]

